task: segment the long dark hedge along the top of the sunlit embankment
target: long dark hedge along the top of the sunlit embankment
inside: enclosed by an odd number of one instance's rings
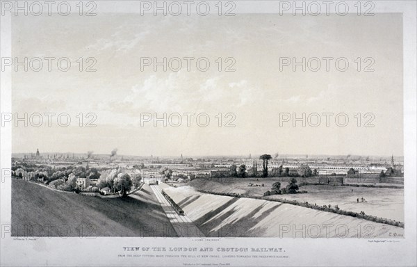
[[[384,223],[385,225],[393,225],[393,226],[404,228],[404,223],[398,222],[396,220],[390,220],[390,219],[386,219],[386,218],[371,216],[371,215],[367,215],[365,213],[361,214],[361,213],[357,213],[357,212],[354,212],[354,211],[343,211],[341,209],[328,207],[326,205],[318,206],[316,204],[309,204],[309,202],[299,202],[297,200],[286,200],[286,199],[281,199],[281,198],[279,198],[279,199],[269,199],[267,197],[254,196],[254,195],[243,195],[243,194],[238,194],[238,193],[219,193],[219,192],[204,191],[204,190],[197,190],[197,191],[199,191],[200,193],[207,193],[207,194],[212,194],[212,195],[225,195],[225,196],[228,196],[228,197],[247,197],[247,198],[253,198],[253,199],[256,199],[256,200],[268,200],[268,201],[273,201],[273,202],[293,204],[293,205],[296,205],[296,206],[305,207],[305,208],[309,208],[309,209],[316,209],[316,210],[319,210],[319,211],[327,211],[327,212],[337,213],[337,214],[341,214],[341,215],[345,215],[345,216],[360,218],[360,219],[364,219],[364,220],[370,220],[370,221],[375,222],[375,223]]]

